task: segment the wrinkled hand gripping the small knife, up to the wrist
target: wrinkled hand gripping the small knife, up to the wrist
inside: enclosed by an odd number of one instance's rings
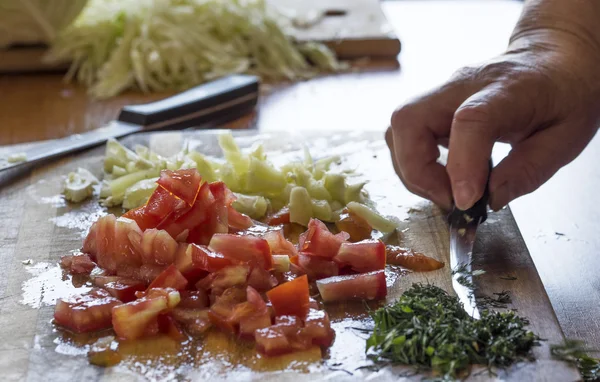
[[[490,175],[491,208],[536,190],[600,122],[600,45],[590,41],[517,28],[505,54],[398,108],[385,137],[405,186],[442,208],[467,209],[483,194],[494,143],[506,142],[512,150]],[[438,145],[449,149],[446,166]]]

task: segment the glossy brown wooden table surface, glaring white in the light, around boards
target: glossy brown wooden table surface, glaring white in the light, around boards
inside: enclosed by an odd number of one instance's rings
[[[237,122],[261,131],[381,131],[393,109],[463,65],[501,53],[519,16],[517,1],[393,1],[383,8],[402,41],[399,63],[277,86],[258,112]],[[0,145],[58,138],[99,127],[120,107],[168,94],[94,101],[60,75],[0,76]],[[499,151],[505,151],[500,147]],[[565,335],[600,347],[600,138],[511,209]],[[568,196],[565,197],[565,196]]]

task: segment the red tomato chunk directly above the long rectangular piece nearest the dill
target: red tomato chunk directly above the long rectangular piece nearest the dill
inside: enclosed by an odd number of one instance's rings
[[[384,269],[385,244],[381,240],[343,243],[334,260],[360,273]]]

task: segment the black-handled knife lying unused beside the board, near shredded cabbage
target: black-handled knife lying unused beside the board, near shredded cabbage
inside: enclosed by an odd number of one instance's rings
[[[47,161],[101,145],[110,138],[117,139],[142,131],[216,127],[251,112],[258,102],[258,88],[258,77],[236,74],[156,102],[124,106],[117,120],[104,127],[34,145],[23,151],[24,160],[16,163],[0,160],[0,172]]]

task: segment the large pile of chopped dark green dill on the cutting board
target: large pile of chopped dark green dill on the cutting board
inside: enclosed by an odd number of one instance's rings
[[[528,321],[508,312],[481,312],[474,320],[456,297],[434,285],[413,284],[393,305],[372,313],[367,351],[377,363],[431,370],[445,379],[468,373],[469,365],[506,367],[531,359],[539,337]]]

